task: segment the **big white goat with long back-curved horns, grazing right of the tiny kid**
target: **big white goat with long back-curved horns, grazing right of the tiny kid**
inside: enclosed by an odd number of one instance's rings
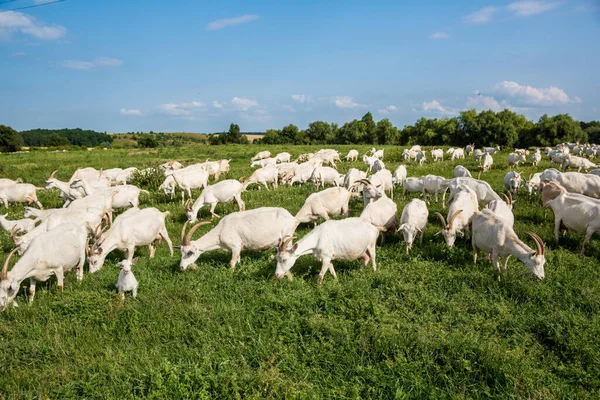
[[[179,268],[185,271],[201,254],[211,250],[225,250],[231,253],[230,268],[235,269],[240,261],[242,250],[266,250],[277,246],[281,239],[291,235],[298,226],[298,220],[284,208],[261,207],[226,215],[217,226],[201,238],[192,241],[192,235],[202,225],[199,222],[189,232],[185,232],[187,221],[181,230],[181,262]]]

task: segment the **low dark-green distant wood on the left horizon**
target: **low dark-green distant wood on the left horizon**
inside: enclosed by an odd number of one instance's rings
[[[102,132],[84,129],[32,129],[19,132],[25,146],[35,147],[110,147],[113,138]]]

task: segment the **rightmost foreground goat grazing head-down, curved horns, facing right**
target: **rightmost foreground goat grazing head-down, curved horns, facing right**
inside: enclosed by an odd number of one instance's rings
[[[525,263],[537,278],[544,279],[546,257],[544,243],[538,235],[533,232],[525,232],[535,242],[536,250],[533,250],[519,239],[515,231],[502,218],[488,209],[483,209],[475,214],[471,225],[474,263],[477,263],[478,250],[491,254],[492,263],[498,272],[498,280],[500,280],[500,259],[504,258],[504,269],[506,270],[508,258],[514,256]]]

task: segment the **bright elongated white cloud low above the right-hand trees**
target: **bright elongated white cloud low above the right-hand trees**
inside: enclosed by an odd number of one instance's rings
[[[536,88],[520,85],[517,82],[503,81],[495,84],[491,90],[500,96],[510,97],[527,105],[552,106],[557,104],[581,103],[579,97],[569,97],[564,90],[555,86]]]

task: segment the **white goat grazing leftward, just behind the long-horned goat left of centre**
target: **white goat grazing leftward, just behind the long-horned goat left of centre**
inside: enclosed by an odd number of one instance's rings
[[[235,200],[240,211],[244,211],[246,203],[242,200],[243,191],[244,185],[235,179],[227,179],[214,185],[206,186],[193,205],[190,206],[190,199],[185,204],[185,213],[188,221],[195,223],[198,219],[198,211],[204,206],[210,206],[210,214],[213,217],[219,218],[219,215],[215,214],[217,204],[225,204],[233,200]]]

